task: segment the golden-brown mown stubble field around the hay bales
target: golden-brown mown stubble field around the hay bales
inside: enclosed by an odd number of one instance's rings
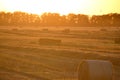
[[[0,79],[76,79],[82,59],[113,63],[115,80],[120,79],[120,44],[115,30],[72,31],[0,30]],[[95,31],[97,30],[97,31]],[[60,45],[40,45],[40,38],[62,40]],[[13,74],[13,75],[12,75]]]

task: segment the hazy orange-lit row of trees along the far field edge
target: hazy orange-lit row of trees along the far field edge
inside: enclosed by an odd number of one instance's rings
[[[1,26],[120,26],[120,14],[105,15],[84,14],[60,15],[59,13],[43,13],[42,15],[25,12],[0,12]]]

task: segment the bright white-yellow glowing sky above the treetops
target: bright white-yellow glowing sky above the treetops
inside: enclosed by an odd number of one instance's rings
[[[120,0],[0,0],[0,11],[99,15],[120,13]]]

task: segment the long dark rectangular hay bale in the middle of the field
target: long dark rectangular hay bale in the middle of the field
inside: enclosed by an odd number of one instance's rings
[[[48,39],[48,38],[39,39],[40,45],[60,45],[61,43],[62,41],[58,39]]]

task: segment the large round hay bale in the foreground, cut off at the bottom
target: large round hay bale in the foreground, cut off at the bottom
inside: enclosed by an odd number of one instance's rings
[[[82,61],[78,68],[79,80],[112,80],[112,64],[102,60]]]

